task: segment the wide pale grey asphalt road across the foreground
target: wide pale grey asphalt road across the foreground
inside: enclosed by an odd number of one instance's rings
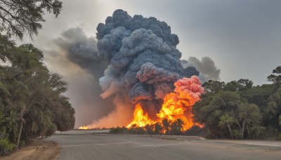
[[[58,159],[281,159],[281,142],[177,136],[53,135]]]

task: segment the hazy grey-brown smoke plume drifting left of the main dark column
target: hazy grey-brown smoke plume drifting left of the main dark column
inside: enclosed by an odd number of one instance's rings
[[[48,67],[62,70],[70,84],[67,96],[76,108],[77,126],[91,124],[115,109],[113,98],[100,97],[99,81],[108,62],[98,56],[97,41],[79,27],[68,29],[53,41],[53,51],[45,55]],[[53,56],[55,55],[55,57]],[[76,126],[76,127],[77,127]]]

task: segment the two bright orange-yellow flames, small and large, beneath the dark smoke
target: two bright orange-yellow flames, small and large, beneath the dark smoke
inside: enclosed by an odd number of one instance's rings
[[[183,78],[175,82],[174,93],[169,93],[164,97],[164,103],[157,116],[159,122],[162,119],[169,119],[176,121],[176,119],[183,120],[183,130],[191,128],[194,124],[192,122],[192,105],[200,100],[200,95],[204,93],[204,88],[201,86],[201,81],[197,76],[192,76],[190,79]],[[155,121],[150,120],[148,114],[143,114],[141,105],[136,105],[133,114],[133,121],[127,127],[133,124],[136,126],[145,126],[146,124],[154,124]],[[198,124],[196,124],[198,125]]]

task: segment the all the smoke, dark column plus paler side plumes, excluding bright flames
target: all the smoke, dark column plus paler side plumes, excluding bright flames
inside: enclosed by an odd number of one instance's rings
[[[181,52],[176,48],[178,36],[156,18],[131,17],[117,10],[97,30],[98,41],[79,27],[68,29],[54,41],[60,48],[58,53],[90,77],[88,84],[70,83],[70,87],[77,86],[70,91],[70,97],[81,99],[74,104],[79,105],[77,111],[84,110],[77,113],[77,119],[90,117],[90,128],[126,126],[138,102],[150,118],[157,119],[164,96],[174,91],[174,82],[184,76],[214,76],[205,68],[214,66],[211,59],[181,61]],[[210,65],[201,64],[204,62]],[[91,122],[81,121],[78,125]]]

